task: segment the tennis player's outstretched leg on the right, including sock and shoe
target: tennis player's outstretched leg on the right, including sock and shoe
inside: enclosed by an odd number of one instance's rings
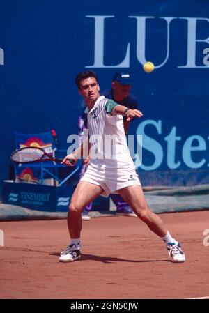
[[[148,208],[148,205],[146,204],[146,199],[141,186],[128,186],[118,190],[118,192],[127,204],[130,205],[134,213],[147,224],[149,229],[157,236],[160,236],[167,244],[167,249],[169,250],[169,255],[171,254],[172,261],[184,262],[185,254],[181,250],[180,244],[171,237],[161,218],[150,211],[150,208]]]

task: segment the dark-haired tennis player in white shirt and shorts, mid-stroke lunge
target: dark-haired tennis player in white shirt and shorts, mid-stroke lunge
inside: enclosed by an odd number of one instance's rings
[[[86,205],[110,193],[121,194],[134,213],[147,224],[148,228],[162,238],[173,262],[184,262],[185,254],[180,243],[174,239],[158,215],[146,204],[141,183],[127,147],[123,116],[127,121],[143,114],[138,109],[129,109],[113,100],[100,96],[98,77],[94,72],[79,72],[75,82],[88,107],[88,131],[91,161],[84,176],[72,194],[68,211],[70,244],[61,252],[59,261],[71,262],[81,257],[82,211]],[[111,156],[107,149],[107,138],[114,137]],[[105,144],[104,144],[105,143]],[[85,143],[86,144],[86,143]],[[75,153],[67,155],[63,164],[70,166],[70,159],[82,155],[84,143]]]

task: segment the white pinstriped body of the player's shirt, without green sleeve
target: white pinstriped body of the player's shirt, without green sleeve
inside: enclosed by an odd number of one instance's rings
[[[100,96],[88,112],[88,132],[91,144],[91,165],[99,168],[135,169],[123,127],[123,116],[107,113],[109,99]]]

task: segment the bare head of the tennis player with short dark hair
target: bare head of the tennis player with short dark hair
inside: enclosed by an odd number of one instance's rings
[[[100,86],[95,72],[91,70],[88,72],[79,72],[75,78],[75,83],[77,84],[80,95],[84,97],[86,104],[94,104],[100,96]]]

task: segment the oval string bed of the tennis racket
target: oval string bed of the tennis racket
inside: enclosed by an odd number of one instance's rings
[[[15,162],[33,162],[40,160],[43,155],[44,152],[39,149],[26,148],[22,151],[16,151],[11,158]]]

